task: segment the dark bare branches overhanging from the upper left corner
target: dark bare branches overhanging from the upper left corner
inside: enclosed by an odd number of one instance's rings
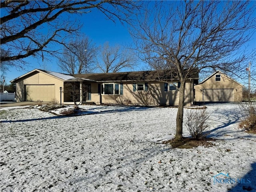
[[[78,20],[69,18],[71,14],[97,9],[110,20],[124,22],[136,5],[133,1],[1,0],[1,68],[22,68],[28,56],[54,56],[58,44],[66,45],[81,28]]]

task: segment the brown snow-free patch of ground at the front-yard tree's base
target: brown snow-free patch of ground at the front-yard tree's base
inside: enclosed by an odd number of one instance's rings
[[[211,147],[215,146],[214,143],[210,141],[214,141],[215,139],[205,138],[205,139],[194,139],[194,138],[183,138],[181,141],[177,141],[175,139],[164,141],[163,144],[170,144],[172,148],[180,148],[180,149],[191,149],[198,146]]]

